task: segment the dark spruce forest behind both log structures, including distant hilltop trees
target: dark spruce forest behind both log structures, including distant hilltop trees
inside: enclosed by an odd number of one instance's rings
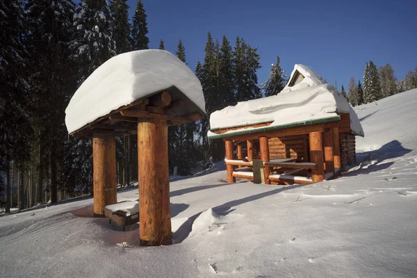
[[[106,60],[149,49],[144,4],[138,1],[131,19],[128,9],[126,0],[0,2],[0,206],[6,213],[92,192],[92,140],[68,136],[65,108]],[[198,174],[224,158],[223,141],[206,137],[213,111],[277,95],[286,84],[279,56],[268,78],[258,80],[258,49],[239,35],[208,33],[201,62],[188,65],[202,83],[207,114],[168,130],[170,174]],[[165,49],[163,39],[158,48]],[[187,63],[181,38],[175,55]],[[352,76],[347,92],[341,86],[352,106],[417,88],[417,67],[397,80],[391,65],[370,60],[360,77],[363,82]],[[122,187],[138,177],[136,144],[135,136],[116,138]]]

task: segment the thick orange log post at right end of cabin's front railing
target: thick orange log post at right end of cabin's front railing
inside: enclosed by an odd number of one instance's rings
[[[325,179],[322,132],[313,131],[309,133],[310,141],[310,161],[316,163],[316,169],[311,170],[311,179],[313,182],[323,181]]]

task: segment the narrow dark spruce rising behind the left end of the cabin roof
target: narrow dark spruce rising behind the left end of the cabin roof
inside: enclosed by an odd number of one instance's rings
[[[220,76],[220,92],[222,102],[225,106],[236,104],[234,95],[234,83],[233,83],[233,65],[232,65],[232,53],[229,40],[223,35],[222,46],[220,47],[219,54],[219,76]]]

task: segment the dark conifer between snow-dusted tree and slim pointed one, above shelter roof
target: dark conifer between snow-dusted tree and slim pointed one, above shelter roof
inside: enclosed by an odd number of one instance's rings
[[[114,20],[113,40],[117,54],[131,51],[131,26],[129,24],[129,6],[127,0],[111,0],[110,11]]]

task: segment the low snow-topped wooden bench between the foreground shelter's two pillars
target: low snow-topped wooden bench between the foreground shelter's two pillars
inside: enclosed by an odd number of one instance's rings
[[[117,225],[123,227],[139,222],[139,202],[122,201],[116,204],[104,206],[104,215],[108,222],[113,220]]]

